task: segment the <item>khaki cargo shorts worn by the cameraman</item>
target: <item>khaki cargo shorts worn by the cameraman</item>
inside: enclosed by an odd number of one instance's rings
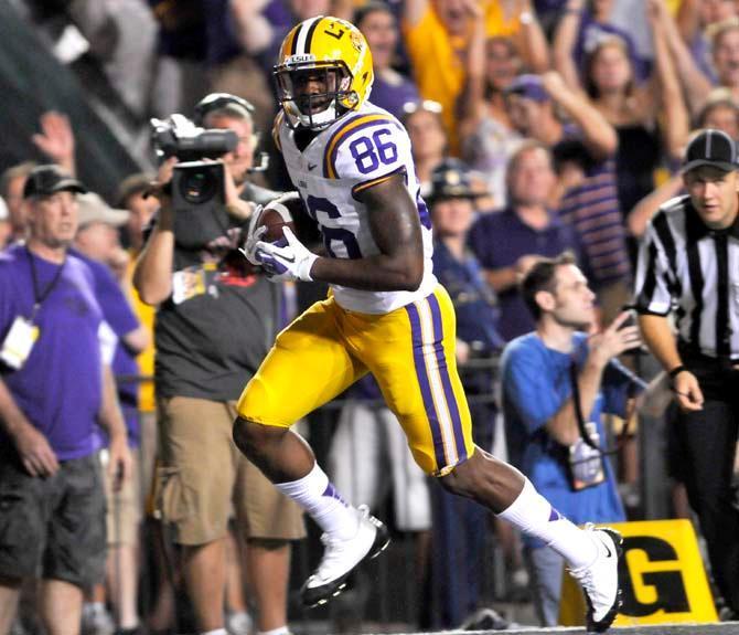
[[[156,515],[174,526],[180,544],[225,536],[232,509],[247,539],[306,536],[302,510],[234,444],[234,403],[175,396],[158,405]]]

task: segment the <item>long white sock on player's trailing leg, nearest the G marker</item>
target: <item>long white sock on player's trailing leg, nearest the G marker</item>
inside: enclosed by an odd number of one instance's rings
[[[598,557],[598,547],[590,537],[551,507],[528,478],[518,498],[499,516],[546,542],[571,569],[589,567]]]

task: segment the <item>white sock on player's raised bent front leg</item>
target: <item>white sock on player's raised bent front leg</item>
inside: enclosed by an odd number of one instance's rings
[[[356,510],[339,495],[318,463],[302,478],[275,486],[308,511],[332,538],[349,540],[356,536],[360,528]]]

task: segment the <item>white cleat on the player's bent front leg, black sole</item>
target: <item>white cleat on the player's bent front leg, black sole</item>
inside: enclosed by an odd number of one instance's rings
[[[336,540],[321,536],[325,546],[318,569],[306,581],[300,594],[306,606],[320,606],[339,595],[350,573],[362,562],[378,555],[389,544],[387,528],[362,505],[357,509],[360,528],[354,538]]]

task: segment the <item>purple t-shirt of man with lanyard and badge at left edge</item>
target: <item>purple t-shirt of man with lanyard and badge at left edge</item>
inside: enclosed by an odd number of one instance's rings
[[[36,339],[20,370],[2,367],[2,380],[15,403],[43,433],[61,461],[98,448],[95,430],[103,399],[98,328],[103,311],[89,267],[74,255],[57,265],[31,255],[24,245],[0,254],[0,339],[17,317],[30,318],[34,305],[31,258],[39,289],[63,266],[35,318]],[[0,431],[0,444],[10,443]]]

